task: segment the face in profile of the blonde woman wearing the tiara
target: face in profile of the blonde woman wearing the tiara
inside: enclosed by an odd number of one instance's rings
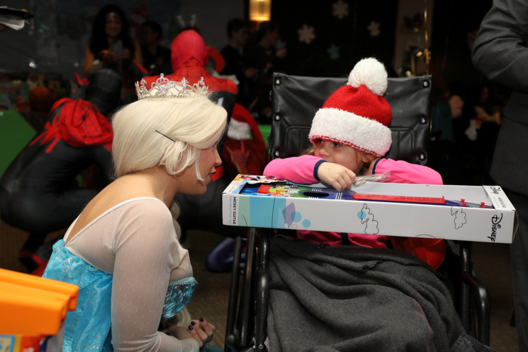
[[[201,149],[199,157],[199,173],[203,181],[196,177],[195,165],[186,168],[181,175],[181,181],[184,182],[182,193],[187,195],[203,195],[207,190],[207,185],[212,181],[211,175],[216,173],[217,166],[222,164],[220,155],[217,150],[217,144],[209,148]]]

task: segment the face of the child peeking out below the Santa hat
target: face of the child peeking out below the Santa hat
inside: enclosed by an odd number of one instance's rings
[[[326,162],[340,164],[358,174],[364,162],[370,162],[369,154],[358,151],[351,146],[344,146],[330,140],[316,140],[316,157]]]

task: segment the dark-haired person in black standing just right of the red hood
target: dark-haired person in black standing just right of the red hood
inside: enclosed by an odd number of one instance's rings
[[[259,69],[245,67],[243,61],[243,48],[250,35],[250,25],[243,19],[232,19],[228,22],[229,44],[221,50],[225,67],[221,74],[234,74],[239,80],[239,94],[236,102],[248,108],[250,104],[250,81],[259,78]]]

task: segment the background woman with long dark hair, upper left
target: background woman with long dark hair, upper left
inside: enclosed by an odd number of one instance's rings
[[[94,18],[90,42],[85,50],[85,78],[94,69],[106,67],[120,74],[122,91],[120,105],[136,100],[135,86],[146,74],[141,46],[130,35],[130,24],[118,5],[104,5]]]

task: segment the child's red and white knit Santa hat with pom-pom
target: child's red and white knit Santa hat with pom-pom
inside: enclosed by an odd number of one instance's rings
[[[325,101],[311,122],[311,143],[330,140],[382,157],[393,142],[392,111],[383,98],[387,72],[375,58],[364,58],[349,75],[347,85]]]

